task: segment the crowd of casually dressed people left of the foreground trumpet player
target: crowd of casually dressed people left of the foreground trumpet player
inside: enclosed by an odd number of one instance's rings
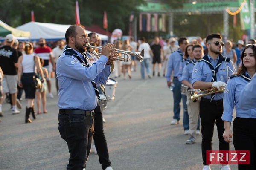
[[[0,116],[3,116],[2,104],[6,96],[6,101],[11,105],[12,114],[20,114],[22,109],[22,94],[25,92],[27,101],[26,106],[26,123],[32,122],[29,118],[29,111],[33,118],[37,114],[41,114],[41,106],[43,112],[47,113],[46,109],[46,92],[48,89],[48,97],[53,98],[51,92],[50,75],[55,70],[55,61],[58,54],[55,49],[63,49],[64,41],[59,40],[57,47],[53,50],[46,46],[44,38],[38,40],[37,46],[30,42],[18,41],[12,34],[6,35],[6,40],[0,46],[0,67],[3,72],[1,76],[1,98],[0,98]],[[52,51],[54,53],[52,53]],[[52,56],[54,55],[54,56]],[[54,60],[55,59],[55,60]],[[42,73],[42,74],[41,74]],[[43,86],[42,89],[34,89],[31,86],[33,76],[39,77]],[[46,80],[46,81],[44,81]],[[58,86],[56,86],[58,87]],[[58,90],[58,89],[57,89]],[[34,107],[34,99],[36,96],[37,112]]]

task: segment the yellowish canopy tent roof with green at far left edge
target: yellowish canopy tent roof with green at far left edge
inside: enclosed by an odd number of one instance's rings
[[[0,37],[5,37],[8,34],[12,34],[15,37],[30,37],[29,31],[22,31],[12,28],[11,26],[0,20]]]

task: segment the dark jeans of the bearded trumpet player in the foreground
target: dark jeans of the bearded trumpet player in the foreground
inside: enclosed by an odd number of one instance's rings
[[[93,117],[88,115],[58,114],[58,130],[67,142],[70,153],[67,170],[82,170],[90,154],[93,139]]]

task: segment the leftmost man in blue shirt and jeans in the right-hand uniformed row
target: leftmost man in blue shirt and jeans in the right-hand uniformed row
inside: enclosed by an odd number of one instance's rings
[[[186,37],[180,37],[178,40],[180,48],[171,53],[169,57],[169,61],[167,63],[167,70],[166,70],[166,81],[167,81],[167,86],[171,86],[171,84],[175,84],[175,88],[173,89],[173,98],[174,98],[174,104],[173,104],[173,120],[171,121],[171,125],[176,125],[180,123],[180,101],[181,101],[181,82],[178,80],[178,73],[180,70],[180,63],[183,60],[183,55],[186,49],[186,46],[189,43],[189,40]],[[172,74],[173,72],[173,74]],[[173,76],[173,80],[171,80],[171,75]],[[186,102],[183,102],[183,106],[186,105]],[[183,109],[185,112],[185,109]],[[186,118],[186,117],[185,117]],[[189,127],[189,118],[187,118],[187,121],[183,121],[183,127],[184,130],[186,127]],[[183,119],[184,120],[184,119]],[[187,122],[187,123],[185,123]],[[188,128],[186,128],[188,129]]]

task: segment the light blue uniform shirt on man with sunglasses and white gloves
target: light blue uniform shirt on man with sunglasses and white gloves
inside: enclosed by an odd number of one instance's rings
[[[209,55],[207,56],[215,69],[219,60],[219,56],[215,60],[215,62]],[[218,72],[216,74],[217,81],[223,81],[224,83],[227,83],[227,78],[230,77],[230,75],[233,75],[234,73],[236,73],[235,70],[236,69],[234,68],[233,62],[231,60],[229,62],[222,61],[221,65],[219,66]],[[212,71],[208,63],[204,61],[200,61],[200,62],[198,61],[197,63],[195,63],[195,66],[192,72],[192,85],[196,81],[204,81],[204,82],[212,81]],[[223,94],[224,93],[215,93],[215,96],[212,100],[223,99]],[[205,95],[203,98],[211,99],[211,94]]]

